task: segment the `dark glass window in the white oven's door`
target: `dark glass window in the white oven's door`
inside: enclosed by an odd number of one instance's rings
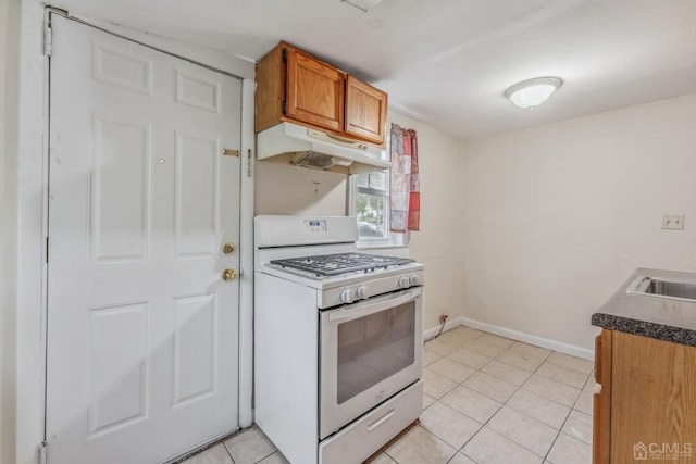
[[[415,302],[338,326],[338,404],[410,366],[415,355]]]

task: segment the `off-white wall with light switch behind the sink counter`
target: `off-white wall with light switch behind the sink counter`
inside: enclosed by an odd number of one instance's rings
[[[695,117],[691,95],[465,143],[464,316],[592,349],[635,267],[696,271]]]

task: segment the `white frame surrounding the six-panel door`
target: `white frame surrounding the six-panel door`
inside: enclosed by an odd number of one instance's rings
[[[52,14],[75,20],[145,47],[173,54],[241,79],[240,170],[240,279],[239,279],[239,426],[253,423],[252,317],[253,317],[253,173],[254,64],[226,53],[175,40],[136,33],[105,23],[71,16],[39,2],[22,1],[20,25],[20,134],[17,186],[17,286],[15,329],[16,390],[9,392],[14,416],[14,453],[17,464],[35,464],[46,437],[46,347],[48,315],[48,159],[49,57],[45,50],[45,24]],[[40,89],[40,91],[36,91]],[[40,291],[37,291],[37,287]],[[12,311],[12,310],[10,310]],[[10,318],[12,319],[12,317]],[[8,353],[12,354],[12,353]],[[14,376],[13,376],[14,374]],[[3,399],[4,401],[4,399]]]

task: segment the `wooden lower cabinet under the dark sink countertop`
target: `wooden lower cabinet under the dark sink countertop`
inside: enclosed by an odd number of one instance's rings
[[[595,379],[595,464],[696,464],[696,347],[602,330]]]

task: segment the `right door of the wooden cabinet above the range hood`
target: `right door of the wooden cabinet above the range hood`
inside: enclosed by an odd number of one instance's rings
[[[386,133],[387,95],[352,76],[348,76],[346,86],[346,133],[382,145]]]

